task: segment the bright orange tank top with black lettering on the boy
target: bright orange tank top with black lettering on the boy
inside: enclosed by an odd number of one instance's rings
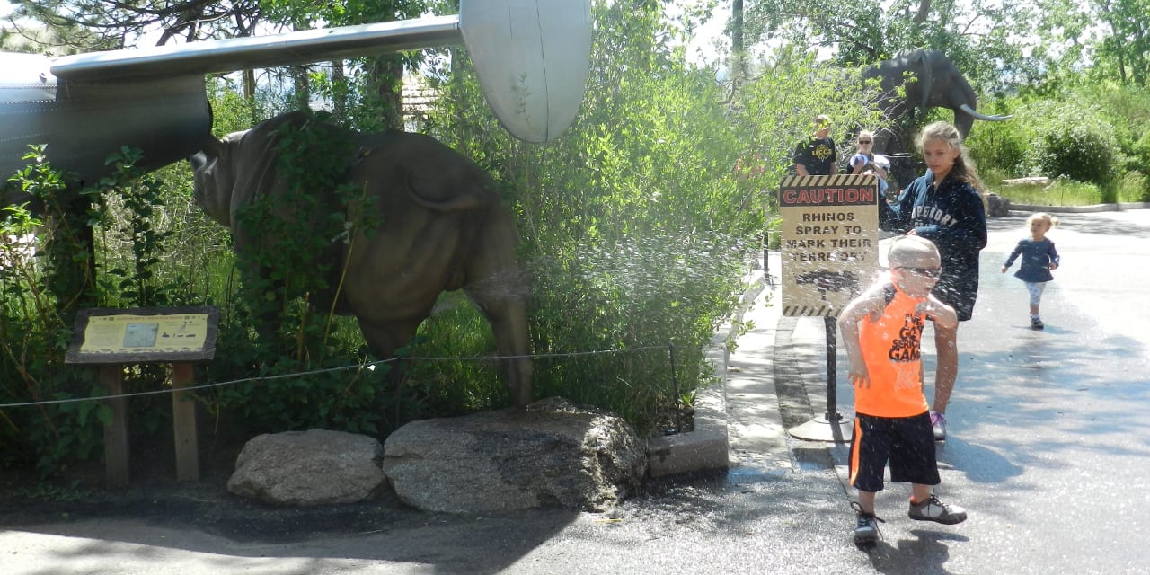
[[[929,409],[922,393],[922,327],[917,300],[894,284],[885,286],[887,307],[879,321],[859,321],[859,345],[871,377],[869,388],[854,388],[854,412],[877,417],[908,417]]]

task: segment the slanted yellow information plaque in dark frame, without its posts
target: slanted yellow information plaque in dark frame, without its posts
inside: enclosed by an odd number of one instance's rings
[[[215,356],[216,307],[91,308],[76,315],[66,363],[136,363]]]

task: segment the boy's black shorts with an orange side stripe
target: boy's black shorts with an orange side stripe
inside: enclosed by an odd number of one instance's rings
[[[850,459],[851,485],[860,491],[882,491],[888,462],[895,483],[940,483],[929,413],[910,417],[856,414]]]

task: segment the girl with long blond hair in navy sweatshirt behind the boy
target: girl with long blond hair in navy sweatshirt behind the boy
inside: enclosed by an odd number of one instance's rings
[[[942,274],[933,293],[954,308],[959,321],[967,321],[979,296],[979,252],[987,246],[982,182],[963,147],[963,136],[952,124],[927,125],[918,144],[927,172],[911,182],[892,205],[879,201],[879,224],[887,231],[923,237],[938,247]],[[935,384],[930,411],[935,439],[946,438],[946,404],[952,388],[952,383],[943,381]]]

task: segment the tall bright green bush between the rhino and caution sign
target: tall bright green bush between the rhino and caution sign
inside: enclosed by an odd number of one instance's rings
[[[766,179],[736,179],[735,160],[756,150],[731,128],[722,86],[684,66],[660,16],[654,2],[595,6],[584,106],[546,146],[498,129],[458,53],[439,69],[446,95],[427,118],[500,178],[519,215],[536,396],[605,407],[643,431],[708,383],[702,346],[758,251],[767,197],[757,186]],[[453,401],[503,400],[483,390]]]

